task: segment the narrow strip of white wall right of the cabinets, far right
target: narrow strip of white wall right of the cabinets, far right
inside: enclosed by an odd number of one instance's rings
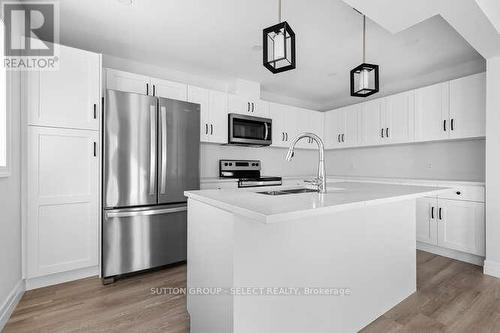
[[[486,69],[486,262],[500,277],[500,56]]]

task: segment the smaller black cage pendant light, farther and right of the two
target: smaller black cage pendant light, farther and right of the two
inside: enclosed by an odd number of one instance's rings
[[[378,65],[367,64],[366,16],[363,15],[363,63],[351,70],[351,96],[368,97],[378,92]]]

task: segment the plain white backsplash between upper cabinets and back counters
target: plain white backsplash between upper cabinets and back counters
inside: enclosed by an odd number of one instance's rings
[[[291,162],[283,148],[201,144],[201,177],[219,176],[219,159],[257,159],[266,176],[312,176],[318,152],[297,149]],[[328,175],[484,181],[485,140],[413,143],[326,152]]]

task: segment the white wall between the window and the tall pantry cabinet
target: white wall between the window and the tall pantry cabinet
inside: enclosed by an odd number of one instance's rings
[[[11,175],[0,178],[0,316],[22,280],[20,73],[12,73],[11,78],[7,82],[12,119]]]

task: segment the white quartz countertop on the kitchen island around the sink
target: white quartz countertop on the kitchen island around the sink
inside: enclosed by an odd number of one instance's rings
[[[297,188],[282,186],[278,189]],[[194,200],[242,215],[263,223],[292,220],[329,212],[362,208],[366,205],[388,203],[435,195],[447,188],[371,182],[337,182],[328,184],[328,193],[264,195],[258,192],[274,188],[224,189],[186,191]]]

